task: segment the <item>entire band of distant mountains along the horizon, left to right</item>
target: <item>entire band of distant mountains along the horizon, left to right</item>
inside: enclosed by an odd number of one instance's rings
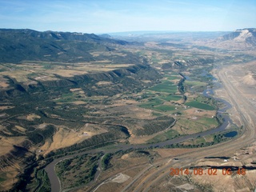
[[[150,36],[148,36],[150,35]],[[211,39],[205,46],[224,49],[255,49],[256,29],[248,28],[234,32],[175,32],[148,34],[137,38],[122,38],[128,41],[188,41]],[[221,36],[217,38],[218,36]],[[162,39],[162,40],[161,40]],[[215,39],[215,40],[214,40]],[[136,45],[112,38],[109,34],[82,34],[70,32],[0,29],[0,62],[18,63],[25,60],[47,62],[90,62],[94,51],[114,51],[118,46]],[[137,44],[138,45],[138,44]],[[140,44],[142,45],[142,44]],[[126,57],[126,60],[134,56]],[[98,58],[97,58],[98,59]],[[103,58],[102,58],[103,59]]]

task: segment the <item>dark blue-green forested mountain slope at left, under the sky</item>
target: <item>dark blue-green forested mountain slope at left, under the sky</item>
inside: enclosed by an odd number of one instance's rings
[[[94,60],[90,51],[126,44],[129,42],[96,34],[0,29],[0,62],[88,62]]]

